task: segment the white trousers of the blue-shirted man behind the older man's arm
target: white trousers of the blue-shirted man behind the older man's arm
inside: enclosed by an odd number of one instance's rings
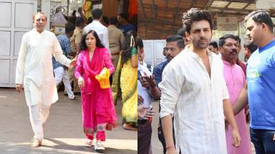
[[[61,83],[63,79],[63,84],[65,86],[65,90],[68,94],[69,99],[74,99],[74,92],[72,92],[72,86],[69,82],[69,73],[62,66],[58,66],[54,69],[54,77],[56,81],[56,86]]]

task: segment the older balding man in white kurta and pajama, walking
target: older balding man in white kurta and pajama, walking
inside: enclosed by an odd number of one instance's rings
[[[66,66],[75,60],[65,55],[56,36],[44,30],[47,18],[43,13],[34,16],[34,29],[23,35],[17,60],[16,88],[24,86],[25,100],[30,111],[30,121],[34,131],[33,146],[41,146],[43,124],[49,115],[50,105],[58,100],[52,67],[52,55]]]

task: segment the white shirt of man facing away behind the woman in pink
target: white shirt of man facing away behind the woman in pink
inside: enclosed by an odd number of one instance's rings
[[[109,37],[108,37],[108,29],[104,25],[102,25],[99,21],[93,21],[89,25],[85,26],[83,29],[83,34],[87,34],[90,30],[96,31],[98,34],[98,38],[101,43],[109,49]]]

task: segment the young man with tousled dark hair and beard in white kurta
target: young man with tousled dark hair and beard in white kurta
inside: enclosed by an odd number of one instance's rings
[[[228,108],[230,101],[223,63],[208,50],[212,37],[211,16],[208,12],[191,9],[184,17],[187,17],[186,22],[194,20],[186,24],[186,35],[192,44],[164,68],[159,84],[162,92],[159,116],[167,153],[226,154],[224,114],[234,127],[235,146],[239,146],[240,138],[232,109]]]

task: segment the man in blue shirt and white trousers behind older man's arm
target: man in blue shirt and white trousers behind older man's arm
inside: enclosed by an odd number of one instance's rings
[[[61,44],[63,55],[67,56],[72,52],[69,37],[71,37],[74,34],[74,28],[74,24],[66,23],[65,34],[56,36],[59,44]],[[54,56],[52,57],[52,66],[54,67],[54,77],[56,81],[56,86],[58,86],[58,84],[60,84],[63,79],[63,84],[65,86],[65,90],[68,94],[69,99],[74,99],[74,92],[72,92],[72,86],[69,82],[69,74],[67,72],[66,66],[57,62]]]

